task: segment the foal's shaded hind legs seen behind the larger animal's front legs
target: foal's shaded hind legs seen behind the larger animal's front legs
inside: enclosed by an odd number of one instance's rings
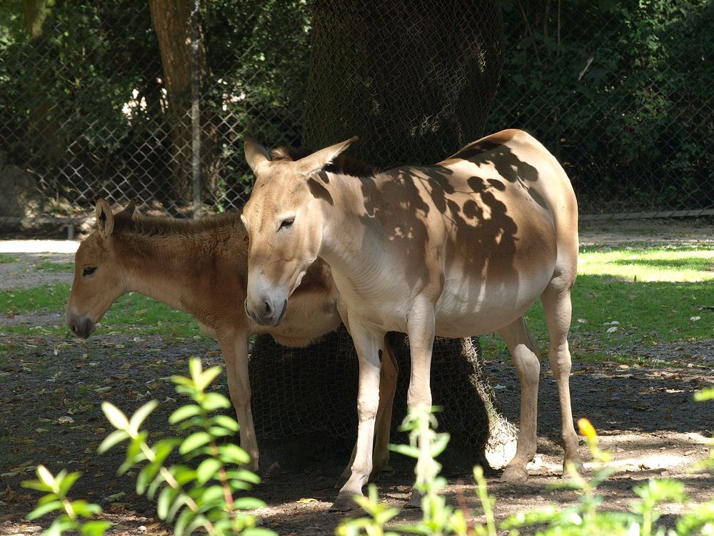
[[[399,365],[394,350],[385,341],[384,353],[382,355],[382,367],[379,374],[379,406],[377,408],[377,417],[375,423],[374,434],[374,451],[372,455],[372,472],[369,475],[369,480],[375,480],[380,472],[387,466],[389,462],[389,436],[392,425],[392,409],[394,403],[394,394],[396,393],[396,380],[398,375]],[[352,474],[352,464],[355,461],[357,454],[357,445],[352,449],[352,456],[347,467],[343,470],[335,485],[340,488],[349,479]]]

